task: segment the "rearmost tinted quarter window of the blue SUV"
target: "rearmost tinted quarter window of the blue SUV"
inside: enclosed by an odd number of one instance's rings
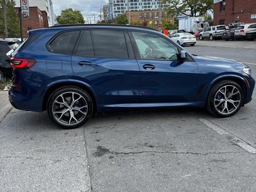
[[[47,49],[51,52],[72,54],[79,33],[79,31],[67,31],[61,33],[47,45]]]

